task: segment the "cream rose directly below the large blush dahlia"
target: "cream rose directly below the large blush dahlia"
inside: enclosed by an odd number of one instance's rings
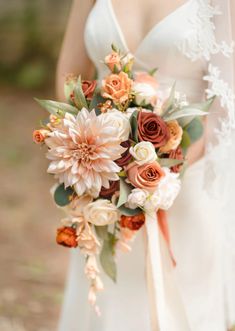
[[[98,199],[85,206],[84,218],[87,222],[103,226],[113,224],[120,217],[119,210],[109,200]]]

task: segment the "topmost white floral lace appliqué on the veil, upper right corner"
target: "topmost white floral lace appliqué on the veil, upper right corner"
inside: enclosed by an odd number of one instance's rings
[[[222,53],[229,57],[233,53],[234,43],[217,42],[215,38],[215,24],[212,18],[221,15],[219,7],[212,6],[210,0],[196,0],[197,10],[189,18],[192,33],[181,41],[178,49],[192,61],[204,58],[210,60],[214,54]]]

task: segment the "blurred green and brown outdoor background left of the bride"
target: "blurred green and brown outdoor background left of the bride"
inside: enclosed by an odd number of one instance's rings
[[[0,331],[53,331],[68,254],[55,244],[60,213],[45,151],[32,142],[54,96],[71,1],[0,0]]]

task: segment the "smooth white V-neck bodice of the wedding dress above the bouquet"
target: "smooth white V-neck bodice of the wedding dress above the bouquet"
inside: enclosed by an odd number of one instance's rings
[[[208,28],[203,18],[208,3],[208,0],[188,0],[158,21],[140,38],[133,52],[137,69],[158,67],[160,74],[171,75],[176,79],[187,76],[201,78],[206,61],[200,59],[198,54],[206,48],[206,41],[205,45],[201,43],[201,35]],[[85,44],[98,72],[104,71],[101,60],[110,53],[111,44],[114,43],[124,52],[131,48],[116,14],[112,0],[97,0],[87,19]],[[131,22],[133,24],[130,18]],[[134,33],[135,27],[132,26],[130,31]],[[191,54],[187,54],[189,48]]]

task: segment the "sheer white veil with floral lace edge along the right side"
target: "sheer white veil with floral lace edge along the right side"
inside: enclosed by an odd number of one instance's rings
[[[206,60],[207,97],[217,98],[206,124],[205,188],[220,203],[221,247],[228,324],[235,316],[235,0],[198,0],[190,18],[196,40],[185,40],[182,51],[192,61]]]

